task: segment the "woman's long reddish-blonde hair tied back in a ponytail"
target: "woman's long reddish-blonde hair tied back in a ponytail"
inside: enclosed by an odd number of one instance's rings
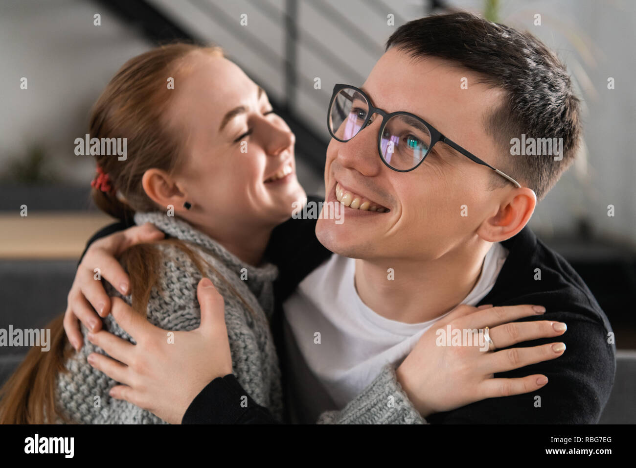
[[[93,106],[89,124],[93,138],[127,138],[129,157],[125,163],[111,155],[96,155],[97,173],[102,180],[92,184],[92,199],[114,218],[132,223],[135,210],[156,209],[142,187],[143,174],[150,168],[170,172],[178,167],[183,141],[179,138],[179,129],[170,127],[165,119],[174,93],[160,83],[165,82],[165,76],[171,76],[168,73],[186,73],[179,63],[191,53],[223,57],[216,47],[176,43],[154,48],[128,60]],[[109,186],[109,182],[113,185]],[[113,187],[118,190],[117,194]],[[200,262],[182,241],[162,242],[176,243],[202,271]],[[133,308],[144,317],[151,288],[157,280],[158,255],[158,250],[151,245],[137,245],[127,250],[121,259],[131,277]],[[231,285],[230,288],[233,290]],[[251,310],[240,295],[239,298]],[[64,315],[50,322],[48,328],[51,329],[51,349],[43,352],[40,348],[31,348],[0,388],[1,424],[53,423],[59,418],[67,422],[55,408],[55,390],[57,376],[67,372],[66,360],[73,356],[74,350],[64,332]]]

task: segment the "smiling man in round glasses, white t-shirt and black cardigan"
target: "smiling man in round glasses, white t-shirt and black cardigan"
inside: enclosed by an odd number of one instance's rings
[[[609,322],[581,278],[526,227],[572,163],[581,131],[553,53],[468,13],[415,20],[389,38],[363,86],[336,85],[329,131],[326,201],[347,207],[344,222],[290,220],[268,248],[285,278],[276,290],[284,314],[272,326],[284,376],[294,376],[290,419],[314,422],[370,398],[364,389],[378,372],[417,407],[419,382],[403,369],[418,363],[405,357],[464,303],[541,304],[546,318],[567,323],[567,351],[495,373],[546,375],[550,383],[532,395],[426,411],[427,422],[597,422],[614,378]],[[526,138],[561,144],[548,155],[513,155],[514,139]],[[184,422],[205,420],[205,401],[241,394],[215,379]],[[242,418],[266,421],[260,411],[251,405]]]

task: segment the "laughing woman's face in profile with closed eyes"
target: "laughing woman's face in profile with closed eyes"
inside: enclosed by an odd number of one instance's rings
[[[230,60],[195,53],[184,67],[168,116],[186,142],[174,177],[193,207],[184,217],[219,235],[283,222],[293,202],[305,199],[296,179],[294,134],[272,113],[265,92]]]

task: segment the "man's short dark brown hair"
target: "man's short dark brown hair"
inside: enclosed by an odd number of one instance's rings
[[[572,164],[581,133],[579,99],[572,92],[565,66],[529,32],[467,12],[449,13],[402,25],[387,41],[387,50],[391,47],[416,59],[448,60],[479,73],[480,83],[506,92],[504,103],[487,114],[485,130],[508,155],[497,159],[501,166],[497,169],[532,188],[538,199]],[[522,134],[535,139],[563,138],[563,159],[511,155],[511,139],[521,139]]]

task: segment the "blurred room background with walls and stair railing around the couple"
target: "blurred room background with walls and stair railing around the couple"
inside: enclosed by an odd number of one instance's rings
[[[130,57],[174,39],[222,46],[296,134],[307,192],[324,194],[333,85],[361,85],[399,25],[453,8],[532,32],[569,67],[583,100],[584,144],[530,226],[581,274],[612,323],[617,381],[602,422],[636,422],[630,0],[3,0],[0,328],[43,327],[64,311],[86,239],[110,222],[90,204],[94,162],[74,154],[74,139],[84,136],[90,106]],[[27,89],[20,89],[23,77]],[[24,206],[28,216],[20,215]],[[0,382],[24,352],[0,348]]]

